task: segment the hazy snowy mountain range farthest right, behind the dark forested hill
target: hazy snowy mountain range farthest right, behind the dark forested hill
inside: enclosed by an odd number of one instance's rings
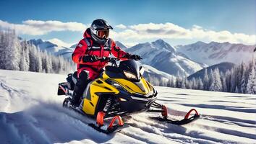
[[[242,63],[252,58],[256,45],[231,44],[229,42],[195,42],[190,45],[177,45],[178,53],[208,66],[221,62]]]

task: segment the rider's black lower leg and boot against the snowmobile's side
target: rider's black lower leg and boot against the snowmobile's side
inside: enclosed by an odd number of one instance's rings
[[[73,107],[78,107],[80,105],[82,94],[89,83],[89,73],[87,71],[82,71],[79,78],[77,78],[77,83],[74,86],[74,92],[70,101]]]

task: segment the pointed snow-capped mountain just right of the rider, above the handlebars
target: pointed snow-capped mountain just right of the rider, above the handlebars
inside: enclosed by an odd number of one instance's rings
[[[129,53],[142,56],[142,63],[153,66],[159,71],[177,76],[188,76],[205,66],[193,60],[177,55],[175,48],[163,40],[145,42],[128,48]]]

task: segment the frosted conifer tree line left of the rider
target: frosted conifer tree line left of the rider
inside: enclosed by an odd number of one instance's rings
[[[75,69],[74,63],[39,50],[26,40],[20,40],[14,30],[0,31],[0,69],[67,73]]]

